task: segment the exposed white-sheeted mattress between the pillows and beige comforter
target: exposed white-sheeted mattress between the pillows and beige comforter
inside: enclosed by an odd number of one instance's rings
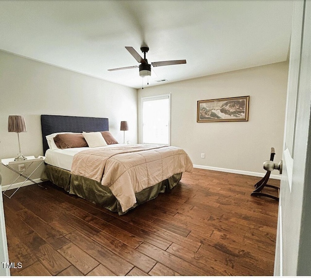
[[[117,146],[125,146],[124,144],[112,144],[105,146],[105,148],[110,148],[110,147],[117,147]],[[101,148],[101,147],[93,147],[95,148]],[[62,168],[68,171],[71,171],[71,165],[72,165],[72,160],[73,156],[83,150],[90,149],[89,147],[72,147],[72,148],[66,148],[66,149],[48,149],[45,153],[46,159],[45,163]]]

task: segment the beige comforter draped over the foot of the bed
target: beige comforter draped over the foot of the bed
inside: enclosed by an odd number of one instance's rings
[[[179,147],[129,145],[94,148],[73,157],[71,173],[108,186],[125,212],[136,203],[135,193],[173,174],[192,172],[192,162]]]

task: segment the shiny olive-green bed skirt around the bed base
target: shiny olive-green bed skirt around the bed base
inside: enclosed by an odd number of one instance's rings
[[[172,189],[181,180],[181,176],[182,173],[174,174],[169,179],[136,193],[137,203],[129,210],[156,198],[159,193],[163,193],[167,189]],[[64,188],[68,193],[84,198],[109,211],[117,212],[119,215],[128,212],[122,212],[119,201],[112,194],[109,187],[95,180],[70,174],[70,171],[51,165],[46,165],[41,180],[50,180],[55,185]]]

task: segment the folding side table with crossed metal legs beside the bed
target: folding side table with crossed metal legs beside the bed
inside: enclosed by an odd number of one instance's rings
[[[35,156],[26,156],[27,160],[18,160],[18,161],[14,161],[15,158],[6,158],[6,159],[1,159],[1,164],[7,168],[9,168],[10,170],[12,170],[13,172],[18,174],[18,177],[9,185],[9,187],[2,192],[2,194],[4,196],[7,196],[9,199],[11,199],[11,197],[17,192],[17,190],[23,186],[23,184],[27,181],[30,180],[33,183],[35,183],[36,185],[46,189],[44,186],[40,185],[39,183],[35,182],[35,180],[32,180],[30,177],[32,174],[35,173],[35,171],[39,168],[39,166],[44,162],[45,160],[45,156],[38,156],[37,158],[35,158]],[[30,174],[25,174],[26,170],[32,165],[32,164],[37,164],[37,166],[35,167],[35,170],[33,170]],[[14,166],[18,165],[18,170],[17,171]],[[14,184],[15,181],[17,181],[17,179],[19,177],[23,177],[25,178],[25,180],[17,187],[17,189],[10,195],[6,195],[5,192],[7,190],[10,189],[10,187]]]

